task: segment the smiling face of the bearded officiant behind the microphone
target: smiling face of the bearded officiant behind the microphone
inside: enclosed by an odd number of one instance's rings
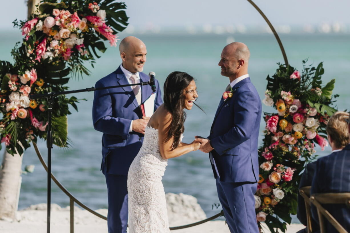
[[[146,45],[144,43],[136,43],[130,45],[129,49],[121,54],[123,67],[132,73],[144,70],[146,62]]]

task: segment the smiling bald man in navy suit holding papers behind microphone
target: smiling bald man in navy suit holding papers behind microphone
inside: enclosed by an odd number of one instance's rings
[[[149,81],[141,72],[146,62],[146,45],[136,37],[124,38],[119,44],[122,64],[116,71],[97,81],[95,87],[116,86]],[[127,174],[139,152],[149,117],[140,105],[151,96],[154,111],[162,104],[159,83],[151,86],[128,86],[98,90],[94,93],[92,120],[103,132],[101,170],[108,190],[107,225],[109,233],[126,233],[128,222]],[[152,98],[153,99],[153,98]]]

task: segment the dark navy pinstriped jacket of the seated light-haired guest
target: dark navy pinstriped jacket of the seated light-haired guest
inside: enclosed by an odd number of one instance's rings
[[[317,160],[316,172],[311,185],[314,193],[350,192],[350,144],[341,151],[333,152]],[[324,208],[346,229],[350,229],[350,209],[345,204],[329,204]],[[318,223],[317,210],[311,205],[312,217]],[[337,232],[327,224],[327,232]]]

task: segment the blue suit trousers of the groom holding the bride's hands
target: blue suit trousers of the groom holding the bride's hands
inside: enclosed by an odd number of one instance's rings
[[[216,188],[231,233],[259,233],[255,214],[258,183],[221,182],[216,178]]]

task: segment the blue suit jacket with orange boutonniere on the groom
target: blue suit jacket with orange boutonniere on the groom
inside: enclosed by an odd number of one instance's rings
[[[261,100],[249,77],[232,89],[233,96],[221,98],[216,111],[208,137],[214,148],[210,153],[221,181],[257,182]]]

